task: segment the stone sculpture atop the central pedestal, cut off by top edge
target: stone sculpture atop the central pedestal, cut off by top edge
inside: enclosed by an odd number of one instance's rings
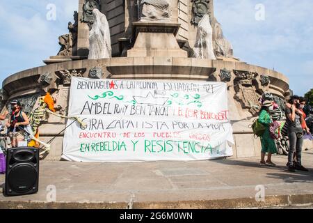
[[[139,20],[167,20],[170,17],[168,0],[141,0],[139,5]]]

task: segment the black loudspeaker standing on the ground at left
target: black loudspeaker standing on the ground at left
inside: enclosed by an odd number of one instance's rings
[[[38,192],[39,150],[33,147],[8,148],[5,196]]]

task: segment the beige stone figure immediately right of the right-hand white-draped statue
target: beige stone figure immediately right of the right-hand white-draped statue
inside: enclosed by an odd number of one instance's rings
[[[222,26],[214,17],[214,52],[216,56],[233,57],[234,50],[232,44],[224,38]]]

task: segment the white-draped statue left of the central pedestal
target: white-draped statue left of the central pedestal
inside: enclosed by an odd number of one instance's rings
[[[110,27],[106,16],[95,8],[93,10],[94,22],[89,32],[88,59],[111,58]]]

